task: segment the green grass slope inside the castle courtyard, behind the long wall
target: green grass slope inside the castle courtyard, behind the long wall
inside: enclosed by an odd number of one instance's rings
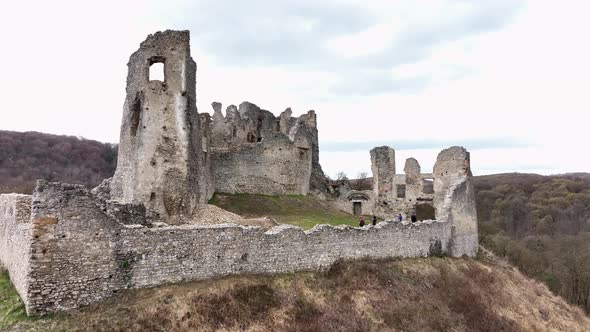
[[[271,217],[281,224],[310,229],[317,224],[358,226],[358,218],[338,211],[327,202],[311,196],[267,196],[216,193],[209,204],[247,218]],[[365,218],[369,223],[370,218]]]

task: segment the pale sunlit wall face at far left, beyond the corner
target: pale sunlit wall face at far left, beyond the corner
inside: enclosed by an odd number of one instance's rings
[[[27,298],[31,246],[31,196],[0,195],[0,265],[8,270],[21,298]]]

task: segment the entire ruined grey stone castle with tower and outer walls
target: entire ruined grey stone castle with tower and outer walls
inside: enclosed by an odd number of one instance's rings
[[[150,79],[156,63],[163,81]],[[460,147],[442,151],[433,174],[408,160],[404,176],[395,172],[392,149],[374,149],[374,189],[328,198],[386,218],[425,202],[436,220],[308,231],[196,220],[215,191],[326,194],[316,114],[294,118],[287,109],[275,117],[250,103],[228,107],[225,116],[218,103],[213,116],[198,114],[188,31],[148,36],[128,67],[114,177],[93,190],[39,180],[32,195],[0,195],[0,262],[27,313],[69,310],[130,288],[313,271],[340,259],[476,254],[469,153]]]

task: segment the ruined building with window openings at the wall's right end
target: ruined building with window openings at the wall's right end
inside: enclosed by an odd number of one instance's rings
[[[382,146],[371,150],[373,190],[346,190],[333,205],[349,213],[376,215],[384,219],[437,220],[453,224],[455,256],[477,253],[478,231],[475,192],[469,152],[462,147],[441,151],[433,173],[421,173],[420,164],[408,158],[405,174],[395,173],[395,152]]]

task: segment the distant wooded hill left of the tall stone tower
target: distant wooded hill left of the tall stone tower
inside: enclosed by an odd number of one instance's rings
[[[111,177],[117,146],[38,132],[0,131],[0,192],[30,194],[35,180],[93,187]]]

